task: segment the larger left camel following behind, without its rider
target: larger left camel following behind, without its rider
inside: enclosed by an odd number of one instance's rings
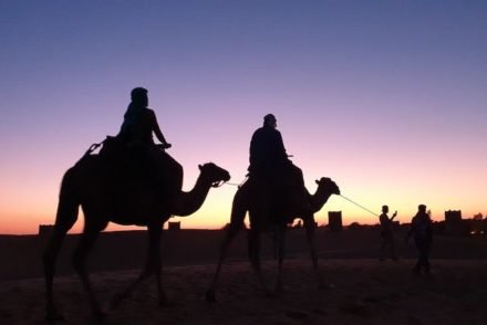
[[[62,321],[64,317],[54,305],[53,280],[55,262],[66,235],[77,219],[79,207],[84,212],[84,229],[80,243],[73,254],[73,264],[79,274],[95,317],[102,318],[105,313],[101,310],[92,289],[85,262],[95,240],[108,222],[117,224],[136,224],[147,227],[148,251],[145,268],[128,289],[116,295],[112,306],[116,307],[126,298],[138,284],[155,274],[159,305],[166,303],[166,295],[162,285],[160,235],[164,222],[172,216],[186,217],[197,211],[204,203],[209,189],[230,179],[227,170],[213,162],[199,165],[199,177],[194,188],[180,191],[170,200],[157,196],[153,187],[147,186],[136,177],[127,177],[117,186],[123,185],[125,193],[115,191],[118,198],[113,197],[113,186],[107,186],[101,155],[91,155],[90,149],[75,166],[70,168],[62,180],[58,212],[53,233],[43,254],[44,277],[46,287],[46,319]],[[105,178],[104,178],[105,177]],[[112,192],[110,190],[112,189]]]

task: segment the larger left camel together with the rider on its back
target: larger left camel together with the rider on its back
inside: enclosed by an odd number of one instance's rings
[[[99,233],[108,222],[144,226],[148,234],[145,268],[125,291],[113,298],[112,307],[118,306],[149,275],[155,275],[159,304],[165,304],[160,261],[164,222],[172,216],[194,213],[201,207],[211,187],[230,179],[227,170],[209,162],[199,166],[200,175],[193,190],[182,191],[183,168],[154,144],[153,133],[163,147],[169,147],[147,103],[146,90],[133,90],[132,103],[117,137],[107,137],[97,155],[93,154],[97,146],[90,147],[64,174],[54,229],[43,254],[48,321],[63,318],[54,304],[55,263],[68,231],[77,220],[80,206],[84,212],[84,228],[74,251],[73,264],[87,292],[93,314],[102,318],[104,312],[92,289],[85,264]],[[138,169],[153,169],[154,174],[149,175],[156,180],[153,184],[131,168],[129,160],[141,157],[134,162],[141,165]]]

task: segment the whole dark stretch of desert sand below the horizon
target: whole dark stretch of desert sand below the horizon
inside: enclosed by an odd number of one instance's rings
[[[245,256],[245,235],[240,235],[224,265],[217,303],[207,303],[204,293],[215,269],[221,231],[165,234],[163,274],[170,305],[157,305],[155,281],[149,279],[118,310],[106,307],[103,324],[487,324],[485,239],[436,238],[434,276],[424,277],[411,273],[413,245],[400,243],[398,262],[380,262],[375,231],[330,234],[320,230],[321,272],[333,287],[319,290],[303,232],[293,230],[288,237],[284,293],[269,298],[257,285]],[[62,324],[94,324],[80,281],[68,266],[75,240],[71,237],[63,249],[61,274],[54,284],[56,301],[66,317]],[[262,240],[263,271],[271,286],[276,261],[271,242]],[[0,324],[44,324],[41,242],[33,237],[1,239],[6,262],[1,266]],[[139,232],[106,233],[100,239],[90,270],[103,305],[138,274],[134,264],[142,265],[144,243]],[[110,254],[114,248],[117,252]]]

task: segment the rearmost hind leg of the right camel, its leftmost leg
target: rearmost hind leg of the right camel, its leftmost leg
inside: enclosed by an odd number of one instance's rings
[[[228,249],[238,232],[244,228],[244,220],[247,214],[247,202],[245,201],[245,188],[240,188],[234,197],[234,202],[231,205],[231,218],[230,226],[225,233],[225,238],[220,244],[217,269],[215,275],[211,280],[209,289],[205,293],[205,300],[207,302],[216,302],[216,289],[218,279],[220,277],[221,266],[225,259],[227,258]]]

